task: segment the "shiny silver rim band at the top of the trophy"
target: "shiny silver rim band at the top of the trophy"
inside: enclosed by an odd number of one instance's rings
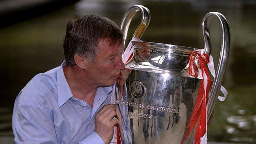
[[[142,41],[132,41],[132,46],[135,56],[126,68],[202,79],[200,75],[181,73],[189,62],[189,53],[200,49]]]

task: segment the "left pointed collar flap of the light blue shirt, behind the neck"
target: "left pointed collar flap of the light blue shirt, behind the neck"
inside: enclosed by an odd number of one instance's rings
[[[73,96],[71,89],[64,76],[63,67],[66,66],[66,61],[62,62],[57,71],[57,85],[58,85],[58,105],[61,107],[69,98]]]

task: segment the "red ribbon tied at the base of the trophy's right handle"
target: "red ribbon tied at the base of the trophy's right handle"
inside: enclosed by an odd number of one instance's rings
[[[200,55],[197,51],[194,51],[190,54],[190,61],[189,61],[189,74],[197,77],[197,65],[195,64],[195,59],[198,58],[199,62],[199,68],[201,69],[203,80],[201,80],[199,91],[197,94],[197,100],[194,105],[194,109],[192,112],[192,115],[190,117],[190,121],[187,126],[186,134],[183,138],[183,144],[187,140],[187,137],[191,133],[191,131],[194,129],[194,127],[197,125],[196,133],[195,133],[195,139],[194,144],[200,144],[200,138],[203,137],[203,135],[206,133],[206,101],[210,89],[210,76],[207,69],[207,63],[209,62],[209,56],[207,54]],[[193,70],[192,70],[193,69]],[[192,73],[194,71],[194,74]],[[204,73],[206,74],[207,79],[204,76]],[[204,86],[204,81],[207,80],[206,89]],[[198,124],[197,124],[198,123]]]

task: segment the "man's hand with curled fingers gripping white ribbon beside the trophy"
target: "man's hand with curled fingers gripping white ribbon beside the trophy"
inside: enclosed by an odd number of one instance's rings
[[[116,105],[109,104],[102,107],[102,109],[95,115],[95,132],[101,137],[105,144],[109,144],[113,138],[114,126],[118,124]]]

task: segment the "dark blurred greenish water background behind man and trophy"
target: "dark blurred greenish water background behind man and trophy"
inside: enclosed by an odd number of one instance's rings
[[[208,127],[212,143],[256,143],[256,1],[255,0],[0,0],[0,143],[14,143],[11,116],[18,92],[37,73],[59,66],[68,21],[100,14],[118,25],[132,5],[151,11],[143,41],[203,48],[201,21],[211,11],[222,13],[231,30],[229,63],[223,85],[224,102],[217,101]],[[140,14],[133,19],[128,40]],[[210,25],[212,55],[217,67],[221,27]]]

